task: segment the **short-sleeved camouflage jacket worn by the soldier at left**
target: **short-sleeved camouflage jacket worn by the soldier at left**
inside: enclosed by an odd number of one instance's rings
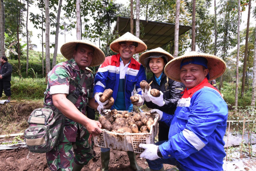
[[[80,83],[81,77],[85,72],[85,82],[83,83],[83,94],[78,97],[75,106],[85,114],[88,99],[93,97],[93,76],[88,70],[81,70],[74,59],[57,64],[48,73],[48,84],[46,89],[46,97],[44,107],[50,107],[52,110],[60,112],[52,102],[52,94],[70,94]],[[76,86],[75,86],[76,85]],[[76,141],[77,129],[83,129],[83,125],[66,118],[64,126],[64,141]]]

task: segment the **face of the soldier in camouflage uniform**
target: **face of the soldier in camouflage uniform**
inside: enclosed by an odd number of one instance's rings
[[[91,64],[93,52],[94,48],[85,44],[79,44],[77,49],[74,50],[73,57],[80,69],[85,70],[85,68]]]

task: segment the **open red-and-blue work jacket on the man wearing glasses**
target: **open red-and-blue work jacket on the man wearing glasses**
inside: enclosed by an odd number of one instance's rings
[[[103,92],[105,89],[112,89],[112,97],[114,101],[117,99],[118,87],[119,87],[119,77],[120,77],[120,54],[113,56],[108,56],[105,58],[105,61],[98,69],[98,72],[95,76],[95,86],[93,93]],[[146,72],[144,67],[137,62],[134,58],[131,58],[130,64],[126,70],[125,74],[125,105],[126,110],[131,105],[130,97],[133,95],[133,89],[135,89],[138,94],[141,94],[141,88],[139,83],[142,80],[147,80]],[[93,96],[94,96],[93,94]],[[111,107],[113,109],[113,106]]]

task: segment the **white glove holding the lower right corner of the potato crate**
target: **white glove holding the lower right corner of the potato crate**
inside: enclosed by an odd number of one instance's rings
[[[139,147],[145,149],[145,151],[143,151],[143,153],[140,154],[140,157],[148,159],[148,160],[156,160],[156,159],[160,158],[157,155],[158,145],[140,144]]]

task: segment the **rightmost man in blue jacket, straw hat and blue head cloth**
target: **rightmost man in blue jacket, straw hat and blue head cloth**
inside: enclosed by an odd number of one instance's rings
[[[223,170],[223,136],[228,108],[221,93],[208,80],[221,76],[225,62],[214,55],[190,52],[171,60],[164,71],[168,77],[184,83],[183,96],[174,115],[158,109],[160,121],[170,125],[168,141],[140,144],[151,171],[164,171],[163,164],[179,170]]]

